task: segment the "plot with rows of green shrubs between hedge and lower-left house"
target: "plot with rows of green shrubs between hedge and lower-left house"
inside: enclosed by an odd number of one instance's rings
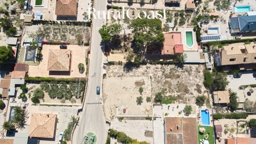
[[[41,103],[79,103],[83,88],[83,82],[41,82],[35,84],[34,88],[28,91],[28,95],[37,97]]]

